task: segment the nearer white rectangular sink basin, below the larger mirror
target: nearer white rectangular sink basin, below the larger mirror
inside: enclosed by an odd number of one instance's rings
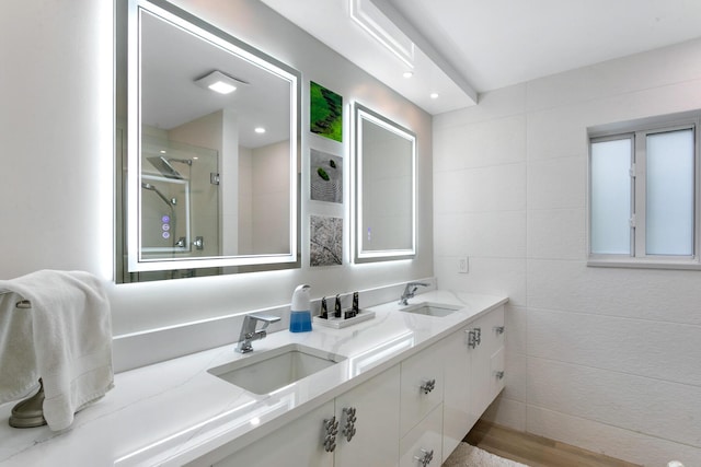
[[[251,393],[263,395],[345,360],[345,357],[290,343],[256,353],[208,372]]]

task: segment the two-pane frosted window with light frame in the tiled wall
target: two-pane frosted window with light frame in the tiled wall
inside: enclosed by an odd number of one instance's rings
[[[698,116],[589,132],[589,265],[698,268]]]

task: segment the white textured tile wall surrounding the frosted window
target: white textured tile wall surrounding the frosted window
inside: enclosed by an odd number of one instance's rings
[[[701,275],[588,268],[585,225],[586,128],[698,108],[699,40],[434,119],[438,287],[510,297],[506,389],[487,419],[646,466],[701,465]]]

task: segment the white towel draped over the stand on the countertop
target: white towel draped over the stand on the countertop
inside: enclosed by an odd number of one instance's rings
[[[64,430],[114,386],[112,320],[102,282],[82,271],[37,271],[0,281],[0,404],[41,377],[44,418]],[[20,295],[32,308],[15,308]]]

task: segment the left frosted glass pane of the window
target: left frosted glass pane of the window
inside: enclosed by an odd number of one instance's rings
[[[591,253],[631,254],[632,140],[591,143]]]

